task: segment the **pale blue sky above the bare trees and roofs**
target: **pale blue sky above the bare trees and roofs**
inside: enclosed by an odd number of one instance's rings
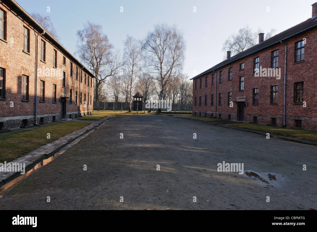
[[[126,34],[143,39],[154,24],[176,24],[184,31],[183,72],[190,78],[194,76],[193,70],[199,74],[223,60],[223,41],[239,28],[248,25],[257,31],[260,27],[264,33],[275,28],[277,34],[310,18],[314,3],[314,0],[16,1],[29,13],[49,15],[60,42],[72,54],[76,50],[76,31],[87,20],[101,24],[110,42],[121,51]],[[193,12],[193,7],[197,12]]]

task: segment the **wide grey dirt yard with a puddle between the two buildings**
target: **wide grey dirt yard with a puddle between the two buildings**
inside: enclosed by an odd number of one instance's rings
[[[316,151],[171,116],[115,116],[1,192],[0,209],[309,210],[317,207]],[[217,172],[223,161],[259,177]]]

